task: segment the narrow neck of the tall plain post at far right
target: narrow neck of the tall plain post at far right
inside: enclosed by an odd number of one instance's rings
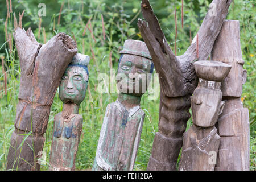
[[[228,114],[236,109],[243,108],[243,103],[241,101],[241,97],[240,98],[224,99],[223,101],[225,102],[225,106],[224,106],[224,109],[223,109],[220,117],[222,115]]]

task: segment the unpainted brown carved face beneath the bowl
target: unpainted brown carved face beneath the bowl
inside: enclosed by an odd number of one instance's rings
[[[221,98],[221,90],[196,88],[191,98],[193,123],[201,127],[215,125],[224,106]]]

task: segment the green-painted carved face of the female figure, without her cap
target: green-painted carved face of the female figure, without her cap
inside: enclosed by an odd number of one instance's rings
[[[59,97],[64,103],[73,102],[79,105],[85,98],[88,85],[88,73],[82,67],[71,66],[61,78]]]

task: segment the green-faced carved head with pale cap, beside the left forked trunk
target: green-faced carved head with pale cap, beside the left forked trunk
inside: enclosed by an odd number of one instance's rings
[[[65,70],[59,88],[59,97],[64,104],[72,102],[80,105],[84,100],[89,78],[89,59],[89,56],[77,53]]]

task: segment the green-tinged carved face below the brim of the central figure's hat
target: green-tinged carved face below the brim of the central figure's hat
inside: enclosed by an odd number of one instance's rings
[[[151,63],[150,59],[124,54],[116,78],[119,92],[142,96],[151,79]]]

